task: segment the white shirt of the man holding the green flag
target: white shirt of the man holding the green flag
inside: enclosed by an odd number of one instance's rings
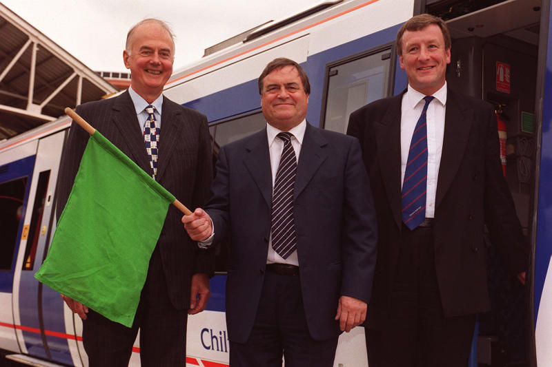
[[[306,129],[306,120],[303,120],[302,123],[290,129],[289,132],[293,135],[291,137],[291,145],[293,150],[295,150],[295,159],[299,162],[299,153],[301,152],[301,145],[303,144],[303,138],[305,136]],[[274,182],[276,180],[276,173],[278,171],[278,165],[280,163],[280,158],[282,158],[282,151],[284,151],[284,142],[282,139],[278,138],[277,135],[282,132],[275,127],[266,124],[266,136],[268,138],[268,153],[270,154],[270,169],[272,170],[272,187],[274,188]],[[281,264],[291,264],[299,266],[299,259],[297,258],[297,250],[293,251],[287,259],[282,258],[278,255],[276,251],[272,248],[272,235],[270,235],[270,240],[268,241],[268,256],[266,258],[266,263],[270,264],[273,262],[278,262]]]

